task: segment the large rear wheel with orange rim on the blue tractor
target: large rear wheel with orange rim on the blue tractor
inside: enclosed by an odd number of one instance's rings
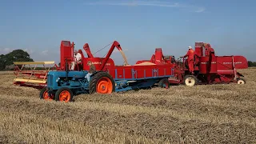
[[[106,83],[111,82],[107,85],[107,90],[99,90],[99,86],[105,86]],[[103,88],[104,89],[104,88]],[[112,90],[111,90],[112,89]],[[106,72],[98,72],[94,74],[93,78],[90,80],[89,93],[99,93],[99,94],[110,94],[115,91],[115,82],[110,74]]]

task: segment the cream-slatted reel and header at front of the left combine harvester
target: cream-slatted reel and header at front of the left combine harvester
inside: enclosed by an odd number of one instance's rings
[[[46,86],[47,74],[50,70],[57,70],[58,66],[52,62],[14,62],[14,84],[42,88]]]

